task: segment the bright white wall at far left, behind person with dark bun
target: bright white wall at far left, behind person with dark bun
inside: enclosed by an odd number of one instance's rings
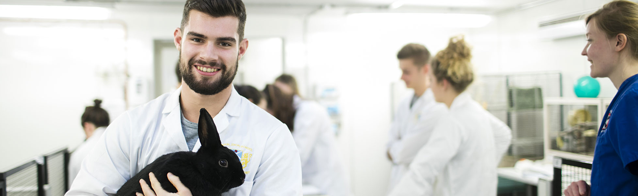
[[[79,144],[93,99],[124,111],[121,24],[0,20],[0,43],[0,168]]]

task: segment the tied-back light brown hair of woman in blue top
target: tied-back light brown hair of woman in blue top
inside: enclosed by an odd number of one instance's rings
[[[612,1],[589,15],[585,24],[594,18],[596,26],[607,34],[607,39],[625,34],[632,57],[638,59],[638,4],[625,0]]]

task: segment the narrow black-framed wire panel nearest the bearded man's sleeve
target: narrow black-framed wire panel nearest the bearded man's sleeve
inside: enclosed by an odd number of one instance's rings
[[[62,196],[68,190],[69,152],[66,148],[44,155],[47,196]]]

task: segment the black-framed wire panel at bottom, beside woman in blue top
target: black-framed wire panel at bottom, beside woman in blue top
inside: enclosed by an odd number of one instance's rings
[[[554,157],[553,161],[554,180],[552,195],[565,195],[563,190],[567,189],[567,186],[575,181],[583,180],[588,185],[591,185],[591,162],[561,157]]]

